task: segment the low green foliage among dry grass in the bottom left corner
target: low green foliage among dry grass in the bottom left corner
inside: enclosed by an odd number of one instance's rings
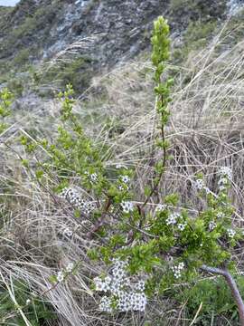
[[[14,291],[14,298],[18,306],[14,306],[14,302],[4,284],[0,284],[0,323],[5,325],[25,326],[23,317],[18,308],[21,308],[26,318],[32,326],[41,326],[47,322],[55,321],[56,316],[52,311],[52,307],[47,302],[43,302],[41,298],[32,294],[31,289],[20,281],[15,281],[11,287]]]

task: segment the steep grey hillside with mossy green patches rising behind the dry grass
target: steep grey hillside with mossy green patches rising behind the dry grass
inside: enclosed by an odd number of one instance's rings
[[[77,91],[84,91],[90,76],[149,49],[152,21],[158,14],[168,19],[179,42],[194,22],[199,29],[204,26],[202,37],[208,37],[229,11],[227,2],[217,0],[130,1],[129,5],[115,0],[22,0],[0,22],[1,80],[9,80],[10,71],[31,71],[32,77],[44,65],[48,72],[38,80],[52,84],[61,80],[54,88],[72,82]],[[53,61],[55,67],[50,69]]]

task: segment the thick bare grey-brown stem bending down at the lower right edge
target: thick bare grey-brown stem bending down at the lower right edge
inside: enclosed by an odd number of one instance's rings
[[[237,283],[233,279],[232,275],[230,272],[226,269],[221,269],[221,268],[215,268],[215,267],[210,267],[207,265],[202,265],[201,266],[202,271],[207,272],[207,273],[215,273],[218,275],[221,275],[225,278],[225,281],[227,282],[228,286],[230,287],[230,290],[232,292],[232,296],[237,303],[238,310],[239,310],[239,322],[240,326],[244,326],[244,302],[241,298],[241,295],[239,293],[239,289],[237,286]]]

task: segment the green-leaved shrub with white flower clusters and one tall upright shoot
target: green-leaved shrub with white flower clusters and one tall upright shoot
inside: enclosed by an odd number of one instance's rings
[[[164,73],[164,62],[169,58],[168,34],[167,23],[159,17],[154,24],[152,62],[159,129],[155,145],[160,158],[144,192],[138,193],[133,187],[136,181],[133,167],[106,165],[103,148],[84,134],[78,116],[72,111],[70,85],[60,93],[61,126],[56,143],[49,144],[47,139],[39,142],[47,158],[37,169],[36,178],[42,185],[45,177],[53,180],[53,190],[69,202],[75,216],[89,220],[86,236],[99,244],[96,250],[89,250],[89,257],[111,266],[107,274],[93,280],[95,291],[101,294],[102,311],[144,312],[146,296],[164,292],[173,283],[190,282],[199,273],[218,273],[227,280],[244,325],[243,302],[230,275],[235,271],[232,251],[243,237],[242,230],[232,225],[234,209],[228,197],[230,168],[216,171],[218,193],[204,184],[202,176],[192,180],[197,206],[180,207],[180,194],[155,199],[170,159],[165,140],[173,83]],[[26,137],[22,137],[22,143],[29,152],[36,149]],[[78,180],[76,187],[69,185],[73,179]],[[59,185],[54,187],[57,181]],[[71,231],[67,230],[66,235],[71,236]],[[70,272],[59,272],[57,280],[63,281],[66,273]]]

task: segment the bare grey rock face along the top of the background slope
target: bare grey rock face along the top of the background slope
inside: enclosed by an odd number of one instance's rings
[[[156,16],[169,18],[174,31],[190,20],[220,19],[226,13],[222,0],[22,0],[8,14],[0,32],[0,58],[14,58],[23,48],[34,59],[50,59],[69,44],[90,38],[100,66],[134,57],[148,46]],[[13,43],[11,48],[11,42]]]

